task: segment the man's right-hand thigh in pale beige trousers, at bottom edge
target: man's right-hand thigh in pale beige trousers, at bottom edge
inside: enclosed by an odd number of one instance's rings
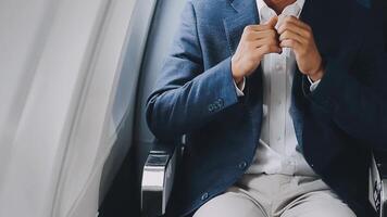
[[[280,217],[355,217],[330,191],[307,193],[290,203]]]

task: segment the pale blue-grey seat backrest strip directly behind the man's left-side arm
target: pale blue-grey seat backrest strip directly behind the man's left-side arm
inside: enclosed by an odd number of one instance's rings
[[[160,1],[154,14],[153,24],[148,39],[146,55],[142,62],[141,79],[137,102],[136,142],[150,143],[154,137],[146,123],[146,102],[153,90],[165,58],[168,54],[175,33],[180,22],[185,0]]]

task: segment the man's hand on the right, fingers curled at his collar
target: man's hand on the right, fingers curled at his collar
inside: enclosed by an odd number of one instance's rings
[[[278,34],[279,46],[294,50],[301,73],[313,81],[321,79],[324,75],[324,66],[311,27],[295,16],[287,16],[279,25]]]

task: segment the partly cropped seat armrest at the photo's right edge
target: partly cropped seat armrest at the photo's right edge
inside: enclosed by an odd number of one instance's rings
[[[370,168],[370,186],[375,208],[380,217],[387,216],[387,152],[374,152]]]

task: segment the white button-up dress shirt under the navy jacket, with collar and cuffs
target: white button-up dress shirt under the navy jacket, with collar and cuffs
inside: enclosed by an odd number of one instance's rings
[[[278,28],[285,16],[299,17],[304,0],[297,0],[286,7],[278,15]],[[274,10],[263,0],[257,0],[260,23],[266,23],[275,16]],[[303,155],[296,151],[298,144],[292,119],[289,114],[292,77],[296,72],[296,58],[290,48],[282,54],[265,54],[261,62],[263,69],[263,119],[260,143],[252,165],[247,174],[284,174],[315,176]],[[310,79],[309,79],[310,80]],[[320,80],[311,81],[313,91]],[[237,94],[244,95],[245,80],[236,86]]]

